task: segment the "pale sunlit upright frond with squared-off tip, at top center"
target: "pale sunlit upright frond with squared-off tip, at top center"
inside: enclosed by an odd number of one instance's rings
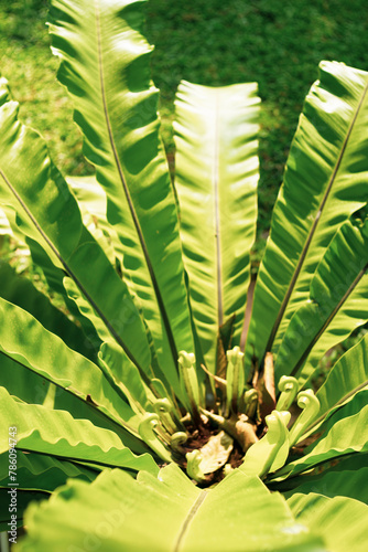
[[[219,327],[232,315],[240,344],[257,220],[256,84],[183,82],[175,110],[175,188],[184,263],[203,353],[216,371]]]

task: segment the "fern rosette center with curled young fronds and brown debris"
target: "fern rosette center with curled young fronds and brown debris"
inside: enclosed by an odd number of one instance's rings
[[[154,413],[140,424],[142,439],[161,460],[175,461],[199,486],[216,484],[238,467],[259,477],[280,469],[317,417],[314,392],[297,393],[293,376],[280,379],[275,400],[270,353],[263,374],[253,374],[251,383],[245,382],[242,363],[243,353],[235,347],[227,351],[226,379],[203,367],[206,380],[199,381],[195,355],[182,351],[182,401],[156,399]]]

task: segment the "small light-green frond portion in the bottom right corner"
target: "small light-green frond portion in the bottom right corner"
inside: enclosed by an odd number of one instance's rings
[[[323,537],[331,552],[366,552],[368,506],[345,497],[326,498],[311,492],[288,500],[296,521]]]

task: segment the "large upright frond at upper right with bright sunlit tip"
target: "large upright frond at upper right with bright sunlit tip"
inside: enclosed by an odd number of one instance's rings
[[[255,290],[247,363],[277,351],[338,226],[367,202],[368,73],[322,62],[306,97]]]

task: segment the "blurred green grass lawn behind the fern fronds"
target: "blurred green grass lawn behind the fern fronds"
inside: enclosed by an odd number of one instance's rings
[[[266,234],[303,98],[321,60],[368,71],[366,0],[150,0],[147,35],[161,89],[163,136],[182,78],[205,85],[258,82],[263,100],[259,236]],[[0,73],[21,118],[46,138],[65,174],[87,174],[73,108],[55,78],[45,21],[47,0],[0,0]],[[260,243],[262,240],[260,241]],[[262,246],[260,245],[260,248]]]

